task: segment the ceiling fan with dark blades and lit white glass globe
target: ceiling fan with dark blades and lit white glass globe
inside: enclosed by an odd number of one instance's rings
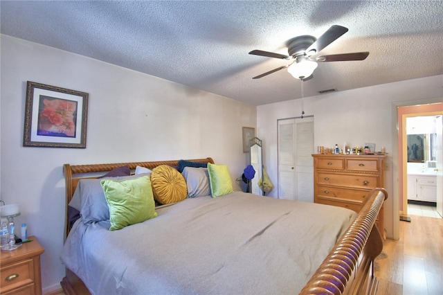
[[[342,53],[333,55],[320,55],[317,57],[311,57],[320,52],[334,42],[338,37],[341,37],[347,32],[347,28],[344,26],[331,26],[323,35],[318,37],[303,35],[290,39],[288,42],[289,55],[283,55],[280,53],[272,53],[268,51],[253,50],[249,54],[261,55],[265,57],[279,58],[282,60],[293,60],[291,64],[286,66],[280,66],[277,69],[273,69],[261,75],[253,77],[253,79],[262,78],[265,75],[275,73],[281,69],[288,69],[287,71],[293,75],[294,78],[300,80],[307,80],[311,78],[312,73],[318,66],[318,62],[343,62],[348,60],[365,60],[368,57],[369,52],[356,52],[356,53]]]

